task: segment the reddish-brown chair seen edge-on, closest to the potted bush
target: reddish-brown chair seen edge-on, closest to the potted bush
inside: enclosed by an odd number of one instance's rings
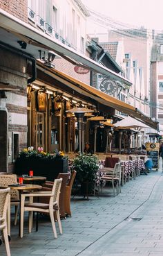
[[[65,198],[64,198],[64,210],[66,214],[71,216],[71,210],[70,210],[70,195],[71,195],[71,190],[73,187],[73,182],[75,180],[77,172],[75,170],[72,171],[70,180],[68,181],[68,185],[66,185],[66,191],[65,191]]]

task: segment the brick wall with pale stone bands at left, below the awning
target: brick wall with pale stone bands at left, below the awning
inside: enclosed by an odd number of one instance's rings
[[[27,74],[26,58],[0,47],[0,83],[10,86],[12,91],[6,91],[6,99],[1,99],[0,108],[7,110],[8,139],[13,142],[14,134],[19,137],[19,150],[27,144]],[[2,125],[3,126],[3,125]],[[1,130],[0,123],[0,130]],[[15,136],[16,137],[16,136]],[[6,141],[8,146],[8,141]],[[12,171],[13,152],[6,155],[8,171]],[[4,157],[3,157],[4,158]],[[1,160],[1,157],[0,157]]]

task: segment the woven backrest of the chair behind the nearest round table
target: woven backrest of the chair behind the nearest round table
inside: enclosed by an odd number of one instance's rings
[[[16,174],[1,174],[0,175],[0,186],[8,187],[8,185],[17,184]],[[10,196],[12,200],[19,200],[19,192],[15,189],[10,190]]]

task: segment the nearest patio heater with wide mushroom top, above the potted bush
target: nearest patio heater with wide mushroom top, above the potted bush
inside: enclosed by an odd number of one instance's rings
[[[84,151],[84,145],[82,144],[82,123],[85,113],[94,112],[93,110],[89,110],[88,108],[71,108],[70,110],[66,110],[66,112],[74,113],[77,117],[77,126],[78,126],[78,135],[79,135],[79,152]]]

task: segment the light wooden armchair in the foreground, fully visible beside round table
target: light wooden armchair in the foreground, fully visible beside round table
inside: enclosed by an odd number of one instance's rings
[[[43,212],[50,215],[52,230],[54,232],[55,238],[57,238],[57,231],[55,228],[55,218],[54,218],[54,212],[56,212],[59,231],[62,234],[61,219],[59,214],[59,194],[61,190],[61,182],[62,182],[62,178],[55,179],[55,181],[53,182],[53,187],[51,191],[39,191],[36,193],[21,194],[21,234],[20,234],[21,238],[23,237],[23,216],[24,216],[24,212],[26,211],[29,212],[29,232],[32,231],[32,219],[33,219],[32,212]],[[30,203],[25,202],[26,197],[30,198]],[[49,202],[33,203],[34,197],[35,198],[48,197]]]

